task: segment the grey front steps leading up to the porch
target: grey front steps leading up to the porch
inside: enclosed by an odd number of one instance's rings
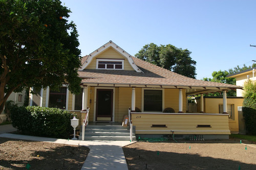
[[[133,130],[133,140],[136,140],[135,129]],[[79,139],[82,140],[80,132]],[[84,140],[130,140],[129,127],[121,125],[89,125],[84,133]]]

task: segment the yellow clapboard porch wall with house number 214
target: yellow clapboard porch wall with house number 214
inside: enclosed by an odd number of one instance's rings
[[[228,114],[131,112],[136,134],[230,134]]]

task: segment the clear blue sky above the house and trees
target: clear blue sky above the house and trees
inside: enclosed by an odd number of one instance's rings
[[[148,43],[188,49],[197,79],[256,60],[256,1],[65,0],[82,56],[112,40],[131,55]]]

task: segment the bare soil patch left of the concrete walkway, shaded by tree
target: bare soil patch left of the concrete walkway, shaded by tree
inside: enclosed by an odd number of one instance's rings
[[[76,145],[0,137],[0,169],[80,170],[89,151]]]

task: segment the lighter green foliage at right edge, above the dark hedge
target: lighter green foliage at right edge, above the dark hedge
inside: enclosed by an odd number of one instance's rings
[[[244,107],[256,109],[256,82],[251,80],[244,83]]]

